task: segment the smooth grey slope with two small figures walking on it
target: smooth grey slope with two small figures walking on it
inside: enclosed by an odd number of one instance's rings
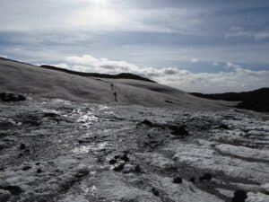
[[[117,77],[117,78],[116,78]],[[51,66],[33,66],[0,58],[0,92],[30,93],[38,98],[150,107],[222,109],[223,101],[196,98],[138,75],[85,74]]]

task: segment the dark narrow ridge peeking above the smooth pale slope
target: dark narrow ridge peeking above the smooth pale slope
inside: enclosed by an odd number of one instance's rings
[[[56,71],[61,71],[61,72],[65,72],[65,73],[72,74],[72,75],[91,76],[91,77],[110,78],[110,79],[134,79],[134,80],[140,80],[140,81],[144,81],[144,82],[156,83],[156,82],[152,81],[151,79],[144,78],[143,76],[140,76],[140,75],[133,75],[130,73],[121,73],[118,75],[108,75],[108,74],[98,74],[98,73],[76,72],[73,70],[64,69],[64,68],[60,68],[57,66],[42,65],[40,67],[51,69],[51,70],[56,70]]]

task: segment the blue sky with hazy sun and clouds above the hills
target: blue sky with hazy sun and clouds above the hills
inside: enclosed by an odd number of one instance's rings
[[[269,1],[1,0],[0,56],[187,92],[269,87]]]

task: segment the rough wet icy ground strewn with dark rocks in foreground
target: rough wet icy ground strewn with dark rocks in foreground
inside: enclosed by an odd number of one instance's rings
[[[265,114],[0,101],[1,202],[269,201],[268,168]]]

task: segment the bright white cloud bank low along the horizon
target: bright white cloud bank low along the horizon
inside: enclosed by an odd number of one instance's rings
[[[269,87],[269,71],[253,71],[227,62],[230,72],[192,73],[176,67],[136,66],[126,61],[97,58],[91,55],[65,57],[65,67],[75,71],[118,74],[122,72],[143,75],[159,83],[187,92],[240,92]]]

